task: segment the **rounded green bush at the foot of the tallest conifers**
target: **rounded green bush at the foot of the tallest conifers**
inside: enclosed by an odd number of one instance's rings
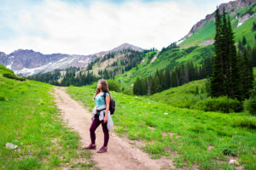
[[[224,113],[241,111],[241,102],[236,99],[228,99],[227,96],[207,98],[197,102],[194,109],[201,111],[220,111]]]

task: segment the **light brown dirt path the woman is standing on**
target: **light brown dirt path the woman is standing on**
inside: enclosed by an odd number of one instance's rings
[[[61,110],[61,116],[67,121],[68,127],[73,128],[81,136],[83,146],[90,144],[90,117],[91,113],[82,105],[73,100],[65,88],[55,87],[55,103]],[[103,144],[102,126],[96,129],[97,150]],[[108,141],[108,152],[98,154],[92,150],[92,158],[96,161],[96,167],[101,169],[122,170],[122,169],[147,169],[156,170],[162,167],[174,168],[171,160],[150,159],[147,153],[129,144],[125,139],[119,138],[115,133],[110,132]]]

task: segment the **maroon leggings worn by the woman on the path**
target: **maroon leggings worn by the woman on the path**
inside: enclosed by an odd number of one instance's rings
[[[99,127],[99,125],[101,123],[102,123],[102,130],[104,133],[104,145],[103,146],[107,147],[108,139],[109,139],[107,122],[104,123],[104,121],[100,121],[99,116],[97,116],[97,115],[94,117],[94,121],[90,125],[90,140],[91,140],[91,144],[95,144],[95,139],[96,139],[95,131],[96,131],[96,128]]]

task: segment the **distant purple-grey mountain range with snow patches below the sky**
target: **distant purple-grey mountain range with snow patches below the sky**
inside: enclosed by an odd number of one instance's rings
[[[124,43],[112,50],[90,55],[76,54],[41,54],[33,50],[18,49],[11,54],[0,52],[0,64],[15,71],[15,74],[22,76],[32,76],[39,72],[54,71],[55,69],[65,69],[70,66],[86,67],[90,62],[102,55],[119,52],[125,49],[143,51],[128,43]]]

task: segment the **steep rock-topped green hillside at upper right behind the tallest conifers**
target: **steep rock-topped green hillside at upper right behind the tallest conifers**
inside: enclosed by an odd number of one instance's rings
[[[240,2],[240,0],[236,2]],[[220,5],[219,8],[221,11],[223,7],[224,5]],[[254,36],[256,35],[256,31],[253,31],[253,22],[256,22],[256,3],[252,1],[251,4],[247,3],[247,6],[242,6],[241,8],[235,5],[231,6],[227,9],[227,13],[230,15],[236,42],[241,41],[244,36],[247,39],[247,44],[252,47],[255,40]],[[214,39],[215,35],[214,13],[211,15],[212,17],[207,17],[207,19],[204,20],[203,25],[201,24],[195,31],[190,31],[189,34],[183,38],[182,42],[180,41],[180,47],[188,48],[195,45],[206,46],[213,43],[211,40]],[[196,25],[199,25],[199,23]]]

